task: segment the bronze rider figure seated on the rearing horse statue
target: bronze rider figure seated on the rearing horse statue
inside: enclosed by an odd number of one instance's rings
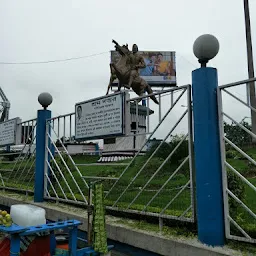
[[[128,87],[131,88],[134,79],[139,76],[139,69],[146,67],[143,57],[138,53],[138,46],[136,44],[132,46],[132,54],[129,55],[129,61],[131,72]]]

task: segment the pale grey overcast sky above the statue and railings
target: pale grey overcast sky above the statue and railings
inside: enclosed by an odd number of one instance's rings
[[[252,38],[256,38],[256,1],[250,0]],[[243,0],[0,0],[0,62],[65,59],[36,65],[0,65],[0,86],[11,102],[11,117],[36,116],[37,96],[53,96],[53,115],[74,111],[76,102],[102,96],[109,80],[112,39],[140,50],[177,53],[178,85],[191,83],[198,62],[194,40],[204,33],[220,42],[219,83],[246,79]],[[255,44],[253,43],[255,46]],[[254,50],[254,54],[256,49]]]

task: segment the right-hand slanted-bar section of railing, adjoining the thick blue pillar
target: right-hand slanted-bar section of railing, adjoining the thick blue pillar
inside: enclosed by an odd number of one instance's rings
[[[108,202],[109,209],[159,218],[194,221],[190,86],[183,86],[170,91],[178,92],[177,98],[171,102],[165,112],[161,110],[162,106],[159,104],[159,122],[118,180],[106,193],[105,201]],[[155,94],[161,96],[160,102],[162,103],[162,96],[168,92]],[[187,107],[181,113],[176,114],[174,112],[175,107],[180,103],[183,96],[187,98]],[[140,98],[136,97],[131,101]],[[176,121],[170,122],[167,128],[166,120],[172,117],[174,113],[176,114]],[[185,117],[187,117],[187,131],[176,144],[172,145],[170,137],[175,132],[177,133],[177,127],[184,121]],[[141,152],[145,145],[151,141],[151,138],[159,136],[159,130],[161,130],[161,142],[149,150],[145,156],[141,156]],[[184,145],[186,145],[187,155],[179,163],[174,164],[175,158],[173,156]],[[169,147],[169,152],[162,158],[159,153],[164,152],[165,147]],[[150,174],[147,174],[149,170]]]

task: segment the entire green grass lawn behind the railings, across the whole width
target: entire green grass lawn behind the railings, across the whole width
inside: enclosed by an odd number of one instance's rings
[[[244,150],[252,158],[256,160],[256,149],[250,148]],[[99,157],[97,156],[73,156],[73,160],[77,165],[82,176],[100,176],[100,177],[112,177],[118,178],[123,170],[126,168],[125,165],[109,166],[109,165],[83,165],[83,164],[92,164],[96,163]],[[5,185],[10,187],[17,188],[29,188],[33,189],[34,179],[32,177],[34,172],[33,166],[34,159],[31,158],[29,162],[24,160],[22,163],[5,163],[0,162],[0,169],[12,169],[13,172],[1,172],[4,178],[9,178],[5,181]],[[59,164],[62,172],[64,173],[65,180],[60,175],[58,169],[54,167],[52,163],[57,179],[64,190],[66,196],[69,199],[73,199],[72,192],[77,200],[83,200],[81,193],[87,197],[88,189],[84,180],[81,178],[77,169],[73,166],[70,160],[67,161],[69,169],[72,173],[72,176],[67,171],[66,167],[61,163],[60,159],[56,158],[56,161]],[[118,163],[128,164],[131,160],[120,161]],[[155,175],[155,177],[147,184],[145,188],[144,185],[151,179],[155,171],[163,164],[164,159],[159,157],[152,158],[143,168],[143,170],[138,174],[138,171],[141,170],[145,162],[147,161],[146,157],[139,156],[133,161],[133,163],[127,168],[124,175],[118,180],[111,192],[106,196],[105,203],[108,206],[112,206],[117,199],[118,202],[115,206],[120,209],[129,209],[134,210],[145,210],[146,212],[155,212],[159,213],[167,204],[177,195],[181,188],[189,181],[189,166],[188,162],[173,176],[173,178],[165,184],[166,180],[173,174],[177,169],[180,163],[173,164],[167,162],[162,169]],[[256,167],[249,163],[245,158],[242,158],[241,155],[237,154],[236,157],[227,158],[227,162],[231,164],[237,171],[239,171],[244,177],[246,177],[252,184],[256,186]],[[80,165],[79,165],[80,164]],[[31,169],[29,170],[29,167]],[[133,180],[133,178],[136,179]],[[32,179],[31,179],[32,177]],[[75,180],[75,181],[74,181]],[[60,198],[64,198],[62,191],[55,180],[52,179],[54,188],[58,193]],[[86,178],[85,181],[89,183],[90,179]],[[112,188],[115,180],[105,180],[103,181],[104,189],[107,194],[110,188]],[[68,184],[68,185],[67,185]],[[163,184],[165,186],[163,187]],[[80,188],[78,188],[78,186]],[[129,188],[127,189],[127,186]],[[69,189],[69,187],[70,189]],[[127,189],[127,190],[126,190]],[[161,192],[155,196],[155,194],[161,189]],[[120,197],[120,195],[125,191],[125,193]],[[256,192],[249,187],[244,185],[244,198],[243,202],[254,212],[256,213]],[[51,195],[54,196],[52,189],[49,189]],[[134,198],[137,197],[135,200]],[[152,200],[153,199],[153,200]],[[134,201],[131,205],[130,203]],[[151,202],[150,202],[151,201]],[[144,209],[145,205],[148,205]],[[171,214],[175,216],[180,216],[191,203],[191,195],[189,187],[184,189],[184,191],[168,206],[165,210],[165,214]],[[191,212],[188,212],[187,216],[191,215]],[[256,222],[253,220],[252,216],[248,214],[241,206],[237,205],[237,209],[232,211],[231,216],[243,227],[248,233],[253,234],[253,237],[256,238]],[[234,229],[235,230],[235,229]],[[232,231],[233,232],[233,231]],[[235,234],[236,231],[234,231]]]

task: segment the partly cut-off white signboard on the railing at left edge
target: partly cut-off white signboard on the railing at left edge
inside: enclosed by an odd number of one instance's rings
[[[0,146],[20,144],[21,127],[18,125],[20,122],[20,118],[14,118],[0,123]]]

